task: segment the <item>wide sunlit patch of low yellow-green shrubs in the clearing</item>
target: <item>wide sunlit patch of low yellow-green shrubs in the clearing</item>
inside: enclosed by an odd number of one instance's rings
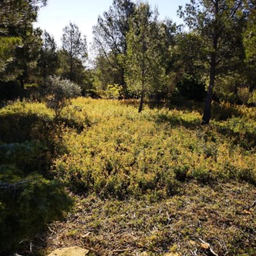
[[[73,104],[88,111],[91,126],[63,130],[65,149],[52,171],[75,191],[164,197],[190,179],[256,182],[254,109],[237,106],[234,113],[243,118],[216,120],[207,128],[197,111],[146,108],[139,115],[116,100],[80,98]]]

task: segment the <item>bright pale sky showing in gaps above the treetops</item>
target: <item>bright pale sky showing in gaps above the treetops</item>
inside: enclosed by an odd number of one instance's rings
[[[157,6],[159,18],[169,17],[180,24],[177,16],[179,5],[184,6],[189,0],[148,0]],[[58,46],[61,46],[63,28],[71,21],[86,35],[88,46],[92,43],[92,27],[97,24],[97,18],[109,9],[112,0],[48,0],[47,6],[40,9],[35,28],[40,27],[54,36]]]

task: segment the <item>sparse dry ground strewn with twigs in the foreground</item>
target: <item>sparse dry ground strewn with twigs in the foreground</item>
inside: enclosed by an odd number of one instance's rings
[[[248,184],[191,182],[184,184],[182,194],[154,203],[77,196],[74,212],[52,223],[35,244],[47,252],[81,246],[102,256],[253,256],[255,195],[255,186]]]

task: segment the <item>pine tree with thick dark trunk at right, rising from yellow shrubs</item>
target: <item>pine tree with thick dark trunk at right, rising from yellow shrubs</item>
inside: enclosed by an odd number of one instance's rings
[[[243,0],[191,0],[180,17],[197,38],[202,63],[209,74],[202,124],[209,124],[216,77],[232,74],[243,61]]]

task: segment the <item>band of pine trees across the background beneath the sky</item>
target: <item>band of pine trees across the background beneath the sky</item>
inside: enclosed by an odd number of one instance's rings
[[[45,4],[1,1],[2,102],[35,97],[52,75],[79,84],[84,96],[140,99],[140,111],[145,97],[205,100],[205,124],[212,99],[256,102],[252,0],[190,1],[178,10],[182,26],[159,20],[145,1],[113,0],[93,26],[90,65],[86,37],[76,24],[63,29],[61,47],[47,31],[33,28]]]

